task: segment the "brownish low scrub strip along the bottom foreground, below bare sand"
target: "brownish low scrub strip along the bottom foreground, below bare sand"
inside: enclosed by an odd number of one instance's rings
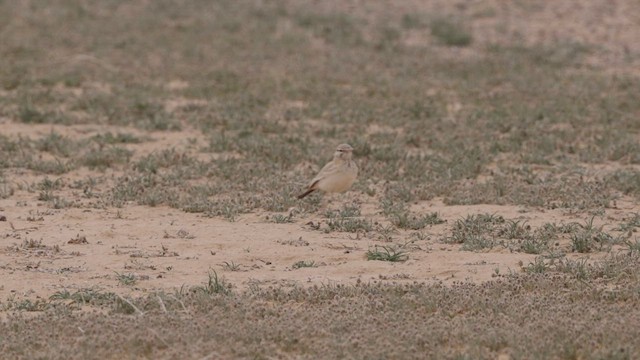
[[[623,263],[619,261],[622,260],[613,259],[610,264],[617,264],[614,267],[620,269],[619,265],[622,266]],[[629,262],[624,263],[627,269],[631,269],[629,265]],[[576,266],[580,267],[579,264]],[[593,274],[598,274],[599,271]],[[559,288],[564,291],[557,291]],[[571,296],[566,296],[566,293]],[[438,284],[360,284],[293,290],[258,288],[236,296],[217,296],[213,293],[216,296],[202,297],[200,294],[202,293],[190,291],[175,294],[160,292],[126,299],[105,296],[105,299],[111,300],[103,306],[111,311],[90,312],[84,316],[69,313],[57,305],[59,310],[50,312],[52,315],[49,316],[23,317],[20,320],[14,318],[12,323],[0,323],[0,331],[6,334],[0,340],[0,346],[5,355],[20,352],[29,356],[35,351],[48,350],[59,346],[55,343],[59,340],[42,338],[41,345],[36,350],[33,346],[28,346],[33,340],[20,335],[24,331],[44,334],[55,326],[63,330],[63,334],[72,330],[84,331],[86,341],[74,347],[78,357],[88,357],[89,354],[108,356],[113,354],[115,345],[128,354],[144,353],[154,357],[166,354],[169,349],[189,357],[195,357],[202,351],[216,351],[222,357],[275,355],[286,347],[289,353],[301,356],[313,356],[322,352],[332,358],[364,358],[369,355],[411,358],[415,355],[413,349],[421,347],[437,357],[460,357],[473,353],[474,356],[487,358],[501,351],[499,347],[486,346],[488,343],[496,343],[498,339],[502,346],[523,354],[531,351],[545,356],[565,354],[567,344],[574,344],[572,346],[575,346],[575,351],[585,356],[590,352],[610,358],[612,354],[620,353],[621,348],[632,358],[638,353],[638,334],[635,331],[625,328],[625,331],[616,333],[615,338],[610,338],[611,342],[591,344],[580,341],[586,335],[581,335],[582,331],[579,330],[593,327],[599,329],[598,336],[606,336],[615,331],[624,319],[635,317],[638,310],[629,304],[630,301],[637,301],[633,290],[622,288],[594,294],[584,280],[571,275],[562,278],[538,272],[512,275],[500,282],[482,285],[463,283],[454,288]],[[457,300],[456,296],[464,296],[465,301]],[[53,300],[52,304],[58,302],[59,300]],[[491,333],[478,333],[477,326],[492,328],[495,312],[498,311],[495,304],[499,305],[500,313],[508,320],[495,327]],[[567,312],[577,311],[577,304],[593,311],[582,311],[581,316],[567,317]],[[5,305],[14,309],[20,307],[24,311],[42,311],[38,309],[51,307],[46,301],[36,303],[17,299],[10,305]],[[371,306],[374,305],[376,311],[372,312]],[[422,311],[417,312],[416,309]],[[131,331],[129,326],[133,321],[132,317],[138,314],[136,310],[144,313],[144,316],[135,319],[141,328],[140,334],[151,333],[145,347],[140,347],[123,336],[123,332],[128,334]],[[459,321],[451,321],[452,317]],[[256,318],[265,326],[256,327]],[[194,319],[198,319],[199,326],[194,325]],[[398,319],[402,320],[402,327],[387,329],[376,325]],[[313,326],[309,326],[310,321]],[[555,325],[544,326],[549,321],[553,321]],[[469,323],[474,326],[468,326]],[[344,333],[332,333],[318,343],[317,336],[314,337],[317,329],[336,324],[342,324]],[[579,329],[575,330],[576,327]],[[369,331],[359,333],[355,330],[359,328],[367,328]],[[430,337],[446,338],[447,346],[438,342],[423,343],[425,340],[420,334],[427,328]],[[163,329],[171,329],[191,340],[184,342],[173,336],[165,336]],[[537,341],[523,341],[520,336],[522,331]],[[216,339],[211,337],[212,332],[225,332],[227,335]],[[566,339],[567,332],[575,334],[579,344]],[[265,349],[264,344],[247,338],[247,333],[266,339],[263,341],[269,341],[275,348]],[[401,336],[402,333],[407,336]],[[451,336],[452,334],[457,336]],[[166,345],[157,340],[157,336],[161,336]],[[110,346],[100,345],[99,340],[104,338],[110,339]],[[354,346],[361,341],[374,340],[384,342],[386,346],[376,349]],[[238,341],[244,345],[230,346]],[[194,342],[199,344],[198,347],[193,346]],[[351,345],[326,347],[326,342],[347,342]]]

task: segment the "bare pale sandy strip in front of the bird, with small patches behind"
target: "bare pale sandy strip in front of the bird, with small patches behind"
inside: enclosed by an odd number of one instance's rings
[[[42,136],[53,127],[11,124],[12,135]],[[97,127],[56,127],[73,137],[87,136]],[[3,131],[4,132],[4,131]],[[151,133],[152,141],[133,144],[138,154],[171,144],[185,145],[195,134]],[[141,151],[144,150],[144,151]],[[85,168],[61,176],[64,183],[86,176],[113,177]],[[14,183],[29,184],[45,176],[15,173]],[[78,191],[65,187],[67,198],[79,198]],[[385,223],[376,200],[354,192],[332,196],[325,204],[339,208],[342,202],[362,203],[362,216]],[[82,288],[122,294],[158,289],[173,291],[182,286],[201,285],[215,270],[237,290],[250,286],[298,286],[309,284],[352,284],[363,282],[446,282],[485,281],[522,267],[536,255],[511,252],[497,247],[487,252],[461,251],[460,245],[446,244],[455,220],[468,214],[492,213],[505,219],[526,220],[532,227],[546,222],[584,222],[584,214],[567,209],[530,209],[517,206],[445,206],[440,200],[417,203],[417,213],[438,212],[445,223],[422,230],[421,239],[411,232],[392,234],[395,243],[408,243],[405,262],[368,261],[366,252],[388,245],[377,232],[325,233],[313,224],[326,221],[317,214],[297,214],[293,223],[269,220],[274,213],[251,213],[235,222],[182,212],[168,207],[127,205],[122,208],[71,207],[52,209],[38,200],[38,191],[24,186],[8,199],[0,200],[0,299],[48,297]],[[296,213],[296,209],[291,209]],[[632,199],[619,199],[607,209],[602,224],[613,226],[630,213],[640,211]],[[286,214],[285,214],[286,215]],[[413,243],[409,242],[414,240]],[[25,245],[31,242],[31,246]],[[567,244],[559,244],[565,246]],[[578,256],[570,254],[570,256]],[[598,255],[580,255],[597,257]],[[299,261],[313,261],[315,267],[295,269]],[[231,266],[229,266],[231,265]],[[133,285],[121,284],[119,275],[133,274]]]

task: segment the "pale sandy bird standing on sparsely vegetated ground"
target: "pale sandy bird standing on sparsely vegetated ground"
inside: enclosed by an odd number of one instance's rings
[[[324,192],[347,191],[358,177],[358,166],[351,159],[353,148],[349,144],[340,144],[333,153],[333,160],[325,165],[316,177],[309,182],[307,191],[298,195],[298,199],[316,190]]]

